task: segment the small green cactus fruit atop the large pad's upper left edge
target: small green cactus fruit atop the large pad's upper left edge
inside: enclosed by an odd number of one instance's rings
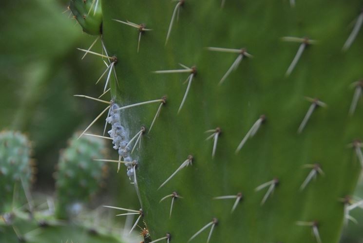
[[[100,0],[71,0],[69,8],[84,32],[93,36],[102,33]]]

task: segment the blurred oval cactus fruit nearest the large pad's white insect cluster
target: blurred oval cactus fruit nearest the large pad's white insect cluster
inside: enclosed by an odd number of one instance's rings
[[[75,134],[61,152],[56,173],[57,217],[77,213],[102,186],[107,168],[95,161],[104,157],[104,142],[93,136]]]

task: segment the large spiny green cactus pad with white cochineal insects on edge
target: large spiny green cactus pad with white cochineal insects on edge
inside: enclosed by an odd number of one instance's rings
[[[145,242],[338,242],[363,166],[362,4],[102,1],[101,114],[140,199],[110,210]]]

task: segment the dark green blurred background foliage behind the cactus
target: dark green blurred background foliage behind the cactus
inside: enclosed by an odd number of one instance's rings
[[[54,196],[59,150],[104,109],[102,104],[73,96],[98,97],[103,84],[95,82],[105,67],[93,56],[81,60],[83,53],[76,47],[87,49],[95,37],[82,33],[67,6],[68,0],[0,1],[0,130],[25,132],[33,142],[38,168],[35,194]],[[100,43],[94,50],[101,50]],[[110,99],[109,94],[104,99]],[[91,131],[101,133],[103,121]],[[110,159],[117,157],[114,150],[109,152]],[[110,166],[106,188],[93,206],[133,208],[137,205],[134,186],[124,171],[117,174],[116,165]],[[362,180],[356,195],[363,198]],[[359,225],[349,222],[342,242],[363,243],[363,217],[359,212],[352,216]]]

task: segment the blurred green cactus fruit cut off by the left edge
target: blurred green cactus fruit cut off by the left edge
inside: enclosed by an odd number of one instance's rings
[[[0,132],[0,212],[26,203],[34,168],[27,137],[15,131]],[[27,193],[27,192],[26,192]]]

